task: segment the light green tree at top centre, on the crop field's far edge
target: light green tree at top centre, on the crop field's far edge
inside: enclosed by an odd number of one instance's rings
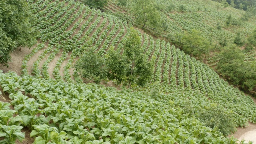
[[[159,28],[161,16],[155,6],[154,0],[135,0],[131,13],[143,28],[146,26]]]

